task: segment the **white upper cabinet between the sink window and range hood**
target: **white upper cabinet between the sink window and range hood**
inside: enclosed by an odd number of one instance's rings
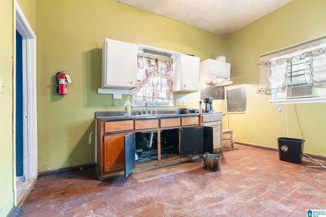
[[[180,54],[174,62],[174,92],[199,91],[200,58]]]

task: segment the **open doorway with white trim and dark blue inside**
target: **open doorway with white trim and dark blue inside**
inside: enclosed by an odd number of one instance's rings
[[[19,205],[37,179],[36,35],[17,1],[14,4],[14,178]]]

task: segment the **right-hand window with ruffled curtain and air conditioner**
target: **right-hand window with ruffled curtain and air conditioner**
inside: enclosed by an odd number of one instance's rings
[[[271,94],[272,104],[326,102],[325,51],[323,40],[315,46],[305,43],[261,56],[260,88],[256,92]]]

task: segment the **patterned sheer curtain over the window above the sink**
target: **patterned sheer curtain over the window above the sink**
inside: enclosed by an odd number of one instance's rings
[[[137,88],[133,103],[144,102],[167,105],[173,103],[172,62],[152,57],[138,56]]]

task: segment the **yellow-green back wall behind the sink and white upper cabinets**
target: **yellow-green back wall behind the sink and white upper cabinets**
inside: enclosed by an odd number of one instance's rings
[[[123,111],[130,96],[111,106],[101,85],[105,38],[194,54],[224,55],[225,38],[113,0],[36,0],[38,170],[94,162],[95,111]],[[53,76],[67,70],[68,94],[56,94]],[[176,94],[197,107],[199,93]],[[89,144],[91,137],[91,144]]]

